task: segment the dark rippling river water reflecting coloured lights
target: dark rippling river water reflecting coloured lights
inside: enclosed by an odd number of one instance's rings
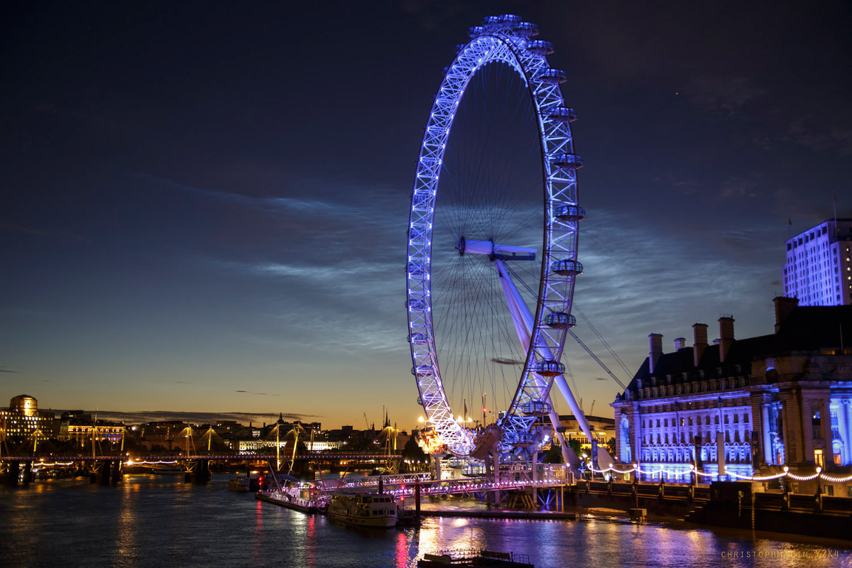
[[[536,568],[852,566],[852,542],[677,521],[634,525],[601,513],[578,521],[429,518],[419,529],[354,529],[227,491],[229,477],[215,475],[208,485],[133,475],[112,486],[3,487],[0,566],[408,568],[425,553],[479,548],[527,554]],[[424,508],[464,506],[445,500]]]

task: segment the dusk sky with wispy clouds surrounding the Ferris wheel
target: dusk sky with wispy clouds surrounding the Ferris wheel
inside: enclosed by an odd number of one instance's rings
[[[852,216],[849,3],[306,4],[4,4],[0,404],[412,427],[410,192],[488,14],[567,71],[574,298],[631,372],[651,332],[770,333],[788,234],[834,194]],[[619,387],[565,360],[610,414]]]

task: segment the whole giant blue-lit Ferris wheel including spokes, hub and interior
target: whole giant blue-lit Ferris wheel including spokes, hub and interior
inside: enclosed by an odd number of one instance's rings
[[[578,413],[561,363],[578,261],[571,123],[550,42],[512,14],[469,29],[440,83],[417,161],[408,225],[412,374],[440,444],[469,456],[496,423],[502,450],[559,426],[554,389]],[[486,414],[469,414],[488,397]],[[481,427],[474,427],[481,426]],[[493,428],[493,427],[492,427]]]

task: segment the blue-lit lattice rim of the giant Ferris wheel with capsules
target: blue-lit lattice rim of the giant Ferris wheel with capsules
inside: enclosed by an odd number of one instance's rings
[[[501,18],[504,20],[499,21]],[[506,18],[515,20],[507,21]],[[469,82],[477,72],[491,63],[503,62],[512,66],[526,83],[526,91],[536,111],[544,189],[543,258],[532,337],[512,403],[501,422],[501,427],[515,433],[515,436],[528,431],[534,422],[529,412],[521,410],[523,404],[544,404],[549,399],[553,377],[550,375],[547,378],[549,371],[545,372],[542,364],[554,364],[554,369],[561,365],[559,361],[567,327],[547,326],[544,324],[544,316],[546,313],[560,313],[567,315],[567,320],[570,320],[574,281],[576,275],[582,272],[577,261],[577,223],[582,218],[579,215],[582,209],[578,205],[576,181],[576,169],[582,161],[573,152],[573,136],[568,120],[550,121],[553,113],[573,116],[573,111],[564,106],[558,86],[565,74],[549,66],[546,49],[539,52],[531,47],[538,48],[543,43],[541,40],[529,40],[524,33],[530,29],[525,26],[534,25],[520,22],[516,16],[504,15],[486,18],[486,26],[490,27],[471,28],[472,39],[459,46],[458,55],[452,65],[447,67],[435,96],[417,162],[408,226],[406,313],[412,374],[420,395],[418,402],[423,405],[427,418],[446,449],[457,455],[469,455],[474,449],[474,439],[469,430],[459,425],[452,416],[440,376],[432,321],[431,241],[435,196],[447,137],[452,131],[459,102]],[[519,28],[521,33],[518,33]],[[544,44],[545,48],[550,45],[547,42]],[[557,167],[556,157],[561,157],[558,159],[568,167]],[[572,168],[572,164],[575,167]],[[577,215],[555,215],[556,207],[565,206],[573,206]],[[564,270],[556,270],[557,265]]]

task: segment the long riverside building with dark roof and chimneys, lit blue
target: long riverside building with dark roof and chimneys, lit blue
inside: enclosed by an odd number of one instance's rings
[[[712,344],[694,324],[692,347],[679,337],[671,353],[651,334],[612,404],[619,460],[672,473],[852,472],[852,306],[780,297],[775,320],[774,334],[738,340],[723,316]]]

